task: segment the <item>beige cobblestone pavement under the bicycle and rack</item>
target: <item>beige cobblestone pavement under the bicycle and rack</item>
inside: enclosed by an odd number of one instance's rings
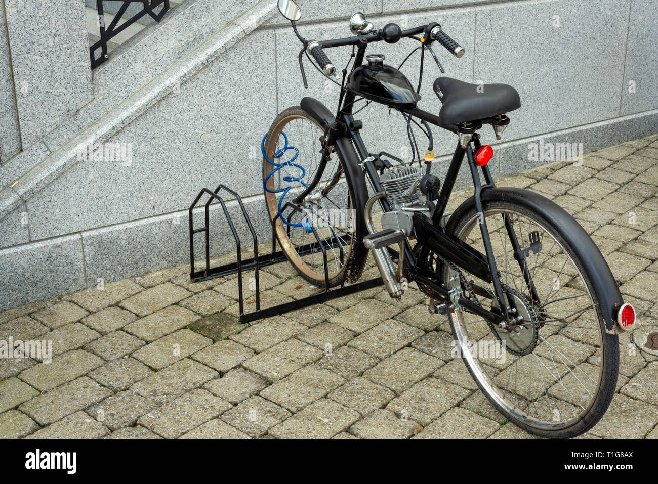
[[[574,214],[640,328],[658,325],[657,140],[498,182]],[[364,277],[375,275],[371,265]],[[294,276],[287,263],[267,268],[263,304],[316,290]],[[194,284],[179,266],[1,312],[0,340],[51,340],[53,360],[0,360],[0,437],[531,437],[451,359],[447,320],[417,289],[395,303],[378,287],[251,326],[236,299],[234,276]],[[658,438],[658,357],[630,344],[620,337],[617,395],[585,437]]]

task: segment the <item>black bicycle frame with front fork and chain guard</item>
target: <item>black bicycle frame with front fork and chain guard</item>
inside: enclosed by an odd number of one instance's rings
[[[424,27],[418,27],[410,30],[405,30],[403,32],[403,37],[411,37],[420,32],[423,32]],[[368,43],[370,41],[376,41],[377,38],[374,34],[369,34],[367,36],[357,36],[357,37],[347,37],[345,39],[335,39],[330,41],[322,41],[321,45],[323,48],[330,47],[341,47],[345,45],[356,45],[358,46],[357,53],[355,54],[355,61],[353,68],[357,68],[363,64],[363,59],[365,57],[365,51],[367,49]],[[301,59],[301,57],[300,57]],[[343,71],[344,77],[345,71]],[[336,140],[340,137],[345,137],[351,141],[359,160],[361,160],[360,166],[363,168],[363,173],[368,177],[372,188],[375,192],[382,191],[382,186],[379,182],[379,177],[377,174],[378,167],[374,163],[374,157],[370,155],[368,149],[363,143],[361,134],[359,130],[362,128],[361,122],[355,120],[353,116],[353,103],[355,101],[355,93],[345,89],[344,85],[340,93],[340,101],[338,112],[334,119],[334,123],[328,126],[326,129],[324,137],[324,146],[332,146]],[[399,107],[401,112],[408,114],[409,116],[414,116],[420,120],[424,120],[434,126],[438,126],[444,130],[448,130],[453,133],[457,133],[457,127],[455,125],[442,125],[439,122],[438,116],[420,110],[417,107]],[[482,120],[486,122],[486,120]],[[473,139],[475,151],[480,148],[480,140],[478,135],[474,136]],[[318,174],[316,174],[315,180],[309,184],[307,189],[297,197],[295,203],[299,203],[300,199],[303,199],[307,193],[310,193],[313,188],[315,188],[316,183],[320,180],[322,172],[326,167],[326,158],[328,153],[325,151],[320,161],[320,168],[318,168]],[[450,162],[445,180],[443,181],[442,190],[440,192],[440,197],[436,203],[436,209],[434,214],[432,214],[432,219],[427,218],[421,214],[414,215],[414,228],[415,235],[418,241],[418,244],[424,249],[438,253],[455,265],[467,270],[470,274],[488,282],[492,283],[495,294],[493,297],[497,299],[499,308],[515,308],[515,301],[511,297],[505,297],[503,289],[501,286],[501,281],[499,278],[499,271],[497,270],[495,257],[493,256],[492,244],[490,241],[490,236],[488,228],[486,226],[486,220],[484,216],[480,218],[480,231],[482,233],[482,241],[484,243],[485,254],[480,253],[476,249],[470,247],[466,243],[463,243],[456,237],[449,235],[443,231],[443,228],[440,226],[440,221],[442,216],[445,213],[445,207],[449,201],[449,197],[453,191],[455,181],[457,180],[457,175],[461,165],[463,164],[464,158],[467,158],[468,167],[470,168],[473,185],[474,185],[474,205],[478,213],[482,213],[482,191],[488,188],[495,187],[493,183],[493,177],[489,170],[488,166],[482,166],[482,174],[484,175],[485,184],[482,185],[482,180],[480,174],[477,170],[477,166],[474,160],[474,150],[468,143],[466,148],[461,147],[457,143],[457,147],[453,154],[452,160]],[[366,183],[365,176],[359,177],[357,180],[353,180],[354,183]],[[391,207],[386,200],[386,198],[380,199],[380,205],[384,212],[391,210]],[[523,251],[520,249],[519,241],[515,230],[509,220],[509,216],[505,217],[505,228],[507,230],[509,239],[511,241],[512,247],[515,251],[515,258],[519,262],[520,269],[526,281],[528,291],[534,301],[538,301],[537,293],[532,282],[532,277],[528,271],[526,261],[522,255]],[[449,301],[449,291],[446,287],[443,287],[441,281],[442,276],[438,272],[434,272],[430,268],[422,267],[418,263],[418,260],[413,253],[409,243],[405,243],[405,254],[404,254],[404,268],[405,274],[409,277],[409,282],[417,281],[418,283],[430,287],[432,291],[436,294],[437,299],[442,301]],[[397,254],[394,251],[391,251],[393,255]],[[459,297],[459,304],[464,308],[467,308],[470,312],[474,312],[486,318],[487,320],[492,321],[494,324],[506,324],[507,315],[506,312],[501,312],[501,314],[496,314],[489,310],[482,308],[479,304],[476,304],[470,299],[465,297]]]

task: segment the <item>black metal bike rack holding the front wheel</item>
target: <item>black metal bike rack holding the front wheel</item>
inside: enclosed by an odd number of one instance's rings
[[[224,199],[222,199],[222,197],[220,197],[219,195],[222,189],[230,193],[230,195],[232,195],[240,205],[240,210],[242,212],[243,217],[245,218],[245,221],[247,222],[247,227],[249,228],[249,232],[251,233],[251,238],[253,241],[253,257],[251,258],[247,258],[243,260],[241,257],[240,236],[238,235],[238,231],[236,230],[236,227],[233,223],[233,219],[231,218],[228,209],[226,208],[226,203],[224,202]],[[203,195],[208,195],[208,201],[205,203],[205,226],[195,229],[193,224],[193,210],[194,208],[196,208],[197,203],[199,203]],[[226,221],[228,222],[228,226],[236,241],[236,249],[237,249],[236,262],[232,262],[231,264],[224,264],[222,266],[216,266],[216,267],[210,266],[210,205],[211,203],[213,203],[213,201],[218,201],[222,206],[222,211],[224,212],[224,216],[226,218]],[[291,203],[286,203],[283,211],[285,211],[286,208],[290,208],[291,210],[295,210],[295,211],[301,211],[301,208],[292,205]],[[190,205],[190,279],[193,282],[201,282],[201,281],[207,281],[209,279],[218,278],[221,276],[228,276],[230,274],[238,274],[240,322],[249,323],[259,319],[269,318],[270,316],[276,316],[277,314],[284,314],[292,310],[305,308],[313,304],[323,303],[324,301],[330,301],[331,299],[336,299],[337,297],[342,297],[348,294],[365,291],[365,289],[370,289],[371,287],[377,287],[383,285],[382,278],[374,278],[368,281],[361,281],[351,285],[343,284],[335,289],[330,289],[328,262],[327,262],[327,254],[326,254],[327,249],[338,247],[340,250],[340,259],[342,263],[344,256],[343,243],[345,243],[347,239],[338,235],[336,231],[333,230],[333,228],[330,228],[330,230],[332,231],[332,238],[329,241],[323,242],[318,236],[315,227],[311,226],[311,231],[313,232],[313,235],[315,235],[316,242],[301,245],[296,249],[297,249],[297,253],[301,255],[322,252],[322,262],[324,264],[324,278],[325,278],[324,291],[322,293],[318,293],[309,297],[296,299],[295,301],[290,301],[290,303],[277,304],[276,306],[261,309],[259,270],[263,267],[270,266],[272,264],[278,264],[280,262],[288,262],[288,258],[286,257],[286,254],[284,254],[283,251],[276,250],[275,223],[278,218],[279,215],[277,214],[276,217],[274,217],[274,220],[272,220],[272,252],[263,256],[259,256],[258,237],[256,235],[256,231],[253,228],[253,225],[251,224],[251,220],[249,219],[249,214],[247,214],[247,210],[245,209],[245,206],[242,203],[242,199],[240,195],[238,195],[238,193],[226,187],[226,185],[220,183],[220,185],[217,186],[215,191],[211,191],[208,188],[202,189],[199,192],[199,195],[197,195],[197,197],[194,199],[192,205]],[[288,230],[290,230],[290,228]],[[194,266],[194,262],[195,262],[194,235],[197,233],[205,233],[205,267],[201,270],[195,270],[195,266]],[[251,270],[251,269],[253,269],[255,272],[256,310],[253,312],[245,313],[243,288],[242,288],[242,273],[244,270]]]

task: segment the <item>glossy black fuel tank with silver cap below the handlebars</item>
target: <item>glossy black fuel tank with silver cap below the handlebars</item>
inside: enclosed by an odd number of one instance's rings
[[[407,106],[420,101],[420,95],[402,72],[384,64],[384,56],[367,56],[368,64],[350,74],[349,89],[376,103],[388,106]]]

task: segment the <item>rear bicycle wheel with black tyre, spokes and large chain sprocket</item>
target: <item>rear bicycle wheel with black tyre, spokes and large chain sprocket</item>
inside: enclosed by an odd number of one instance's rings
[[[449,319],[459,356],[505,418],[534,435],[576,437],[600,420],[613,398],[619,372],[617,335],[605,332],[593,279],[578,248],[561,235],[569,226],[566,220],[546,220],[528,202],[490,200],[483,214],[471,208],[459,220],[450,220],[447,229],[484,253],[478,224],[482,216],[503,292],[515,302],[522,326],[510,332],[480,316],[452,310]],[[513,257],[505,216],[525,251],[536,298]],[[570,217],[566,212],[564,216]],[[463,276],[472,291],[454,268],[443,268],[449,287],[459,287],[466,297],[495,312],[493,285],[468,273]]]

